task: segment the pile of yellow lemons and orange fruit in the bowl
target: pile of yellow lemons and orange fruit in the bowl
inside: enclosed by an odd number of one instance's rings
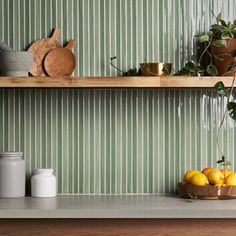
[[[236,186],[236,173],[230,169],[218,170],[212,167],[207,167],[202,171],[189,170],[185,173],[182,184]]]

